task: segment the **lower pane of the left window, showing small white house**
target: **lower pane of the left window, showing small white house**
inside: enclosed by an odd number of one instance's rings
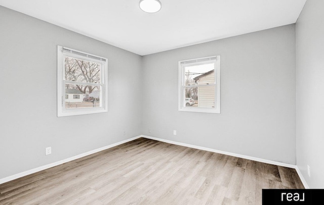
[[[65,84],[65,109],[98,108],[101,86]]]

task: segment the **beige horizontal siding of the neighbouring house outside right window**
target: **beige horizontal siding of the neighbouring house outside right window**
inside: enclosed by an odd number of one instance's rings
[[[197,84],[211,84],[215,82],[215,73],[199,78]],[[215,107],[215,86],[198,87],[198,108]]]

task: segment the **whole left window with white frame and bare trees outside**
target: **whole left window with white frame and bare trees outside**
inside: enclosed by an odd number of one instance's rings
[[[106,58],[58,46],[57,64],[58,117],[107,112]]]

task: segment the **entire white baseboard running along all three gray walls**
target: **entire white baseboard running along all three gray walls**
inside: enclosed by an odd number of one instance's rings
[[[73,160],[76,160],[76,159],[79,159],[79,158],[83,158],[83,157],[86,157],[88,155],[92,155],[93,153],[96,153],[96,152],[99,152],[99,151],[102,151],[102,150],[105,150],[105,149],[108,149],[108,148],[111,148],[111,147],[114,147],[114,146],[117,146],[117,145],[120,145],[120,144],[124,144],[126,142],[129,142],[129,141],[141,138],[141,137],[147,138],[147,139],[153,139],[153,140],[157,140],[157,141],[161,141],[161,142],[166,142],[166,143],[170,143],[170,144],[176,144],[176,145],[191,147],[191,148],[195,148],[195,149],[221,153],[223,155],[229,155],[229,156],[238,157],[238,158],[242,158],[242,159],[253,160],[253,161],[257,161],[257,162],[263,162],[263,163],[267,163],[267,164],[293,168],[293,169],[296,170],[297,174],[299,175],[304,187],[306,189],[309,189],[309,186],[307,185],[306,180],[304,179],[302,173],[300,172],[300,170],[298,169],[298,167],[296,165],[290,165],[290,164],[275,162],[275,161],[271,161],[271,160],[264,160],[264,159],[260,159],[260,158],[255,158],[255,157],[250,157],[250,156],[245,156],[245,155],[239,155],[239,154],[232,153],[232,152],[221,151],[221,150],[207,148],[207,147],[203,147],[203,146],[196,146],[196,145],[192,145],[192,144],[186,144],[186,143],[182,143],[182,142],[176,142],[176,141],[171,141],[171,140],[167,140],[167,139],[161,139],[161,138],[157,138],[157,137],[151,137],[151,136],[147,136],[147,135],[139,135],[139,136],[136,136],[136,137],[132,137],[132,138],[120,141],[120,142],[116,142],[116,143],[113,143],[113,144],[110,144],[110,145],[107,145],[107,146],[103,146],[103,147],[98,148],[98,149],[94,149],[94,150],[91,150],[91,151],[87,151],[85,153],[81,153],[80,155],[76,155],[76,156],[67,158],[65,160],[61,160],[61,161],[58,161],[58,162],[54,162],[54,163],[51,163],[51,164],[48,164],[48,165],[44,165],[44,166],[41,166],[41,167],[31,169],[31,170],[28,170],[28,171],[25,171],[25,172],[21,172],[21,173],[18,173],[18,174],[9,176],[9,177],[5,177],[3,179],[0,179],[0,184],[12,181],[14,179],[18,179],[20,177],[27,176],[29,174],[33,174],[33,173],[36,173],[36,172],[39,172],[39,171],[43,171],[43,170],[46,170],[48,168],[55,167],[57,165],[61,165],[61,164],[64,164],[64,163],[67,163],[67,162],[70,162],[70,161],[73,161]]]

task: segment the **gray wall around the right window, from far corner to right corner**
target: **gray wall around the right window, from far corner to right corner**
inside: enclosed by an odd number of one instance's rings
[[[144,56],[143,134],[296,164],[295,45],[292,24]],[[178,61],[213,55],[221,114],[179,112]]]

